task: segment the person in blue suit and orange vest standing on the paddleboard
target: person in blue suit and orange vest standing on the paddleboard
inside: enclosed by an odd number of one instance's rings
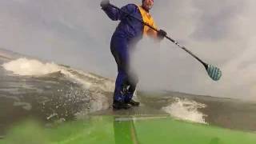
[[[130,70],[129,50],[143,35],[162,40],[166,36],[164,30],[158,30],[154,19],[150,15],[150,9],[154,0],[142,0],[142,5],[128,4],[121,9],[110,4],[109,0],[102,0],[102,10],[114,20],[120,20],[110,42],[110,50],[118,65],[118,76],[115,82],[113,109],[129,109],[131,106],[139,106],[132,98],[138,83],[138,77]],[[139,21],[139,20],[140,21]],[[156,30],[145,26],[142,22],[154,27]]]

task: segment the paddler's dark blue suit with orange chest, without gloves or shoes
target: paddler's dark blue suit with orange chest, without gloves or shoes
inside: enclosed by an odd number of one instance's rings
[[[121,21],[114,31],[110,42],[111,53],[118,64],[118,76],[115,82],[114,100],[118,102],[129,102],[133,97],[134,90],[138,83],[137,75],[130,71],[129,49],[142,38],[142,35],[145,32],[149,34],[154,34],[154,32],[150,32],[149,29],[146,30],[142,22],[131,18],[127,14],[133,15],[144,22],[146,18],[143,17],[145,17],[146,14],[146,17],[150,18],[152,26],[154,26],[154,21],[153,18],[150,17],[150,14],[142,10],[142,7],[134,4],[123,6],[121,10],[117,10],[109,5],[102,10],[106,12],[110,19]]]

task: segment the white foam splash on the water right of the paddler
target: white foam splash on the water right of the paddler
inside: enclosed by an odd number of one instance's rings
[[[166,113],[170,114],[174,118],[207,124],[205,117],[206,114],[198,111],[206,107],[205,104],[195,102],[188,99],[175,98],[175,101],[170,106],[163,107]]]

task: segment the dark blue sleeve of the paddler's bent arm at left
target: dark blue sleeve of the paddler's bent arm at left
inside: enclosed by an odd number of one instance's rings
[[[136,9],[136,7],[137,6],[134,4],[128,4],[126,6],[123,6],[121,8],[121,10],[118,10],[118,9],[115,9],[114,7],[112,7],[110,4],[109,6],[102,8],[102,10],[105,11],[105,13],[107,14],[107,16],[110,19],[112,19],[113,21],[118,21],[118,20],[121,20],[122,18],[126,17],[127,14],[132,13]],[[125,13],[122,11],[124,11]]]

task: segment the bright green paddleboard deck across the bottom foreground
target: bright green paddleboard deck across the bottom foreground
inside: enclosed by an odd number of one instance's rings
[[[182,122],[162,111],[139,107],[103,110],[89,118],[42,126],[26,121],[14,126],[0,144],[255,144],[256,133]]]

